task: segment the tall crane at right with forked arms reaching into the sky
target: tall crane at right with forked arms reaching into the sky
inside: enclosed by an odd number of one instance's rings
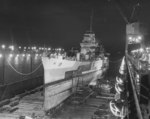
[[[130,97],[132,97],[134,99],[134,102],[135,102],[135,108],[136,108],[136,112],[137,112],[137,117],[138,119],[143,119],[143,115],[142,115],[142,112],[141,112],[141,108],[140,108],[140,104],[139,104],[139,95],[137,94],[137,88],[136,88],[136,84],[135,84],[135,77],[133,74],[133,67],[131,66],[131,62],[129,62],[129,58],[128,58],[128,35],[135,35],[134,37],[138,37],[138,31],[139,29],[136,29],[135,26],[132,27],[132,25],[137,25],[137,21],[138,21],[138,15],[139,15],[139,12],[140,12],[140,3],[139,1],[136,2],[136,4],[134,4],[132,6],[132,10],[131,10],[131,13],[128,15],[125,14],[125,12],[123,11],[123,9],[121,8],[121,5],[120,5],[120,1],[119,0],[112,0],[113,3],[115,4],[115,7],[117,8],[117,10],[119,11],[121,17],[123,18],[123,20],[125,21],[125,24],[126,24],[126,46],[125,46],[125,61],[126,61],[126,65],[127,65],[127,79],[126,79],[126,83],[127,85],[125,85],[126,88],[129,88],[128,87],[128,83],[130,83],[130,87],[132,87],[132,94],[130,93]],[[110,0],[109,0],[110,2]],[[129,29],[128,29],[129,28]],[[133,29],[132,29],[133,28]],[[129,31],[128,31],[129,30]],[[136,32],[136,33],[135,33]],[[134,38],[135,39],[135,38]],[[133,59],[132,59],[133,60]],[[127,94],[126,94],[127,95]],[[127,96],[129,96],[127,95]],[[129,100],[130,102],[130,100]],[[129,103],[127,101],[127,104]],[[134,111],[134,110],[133,110]],[[127,114],[127,118],[129,119],[129,114]]]

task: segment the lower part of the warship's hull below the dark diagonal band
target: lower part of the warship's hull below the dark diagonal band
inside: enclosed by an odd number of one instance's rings
[[[73,71],[67,73],[73,74]],[[49,111],[62,103],[71,94],[73,94],[78,86],[89,84],[92,80],[96,80],[102,76],[102,70],[94,71],[77,77],[68,77],[56,82],[46,84],[44,110]]]

